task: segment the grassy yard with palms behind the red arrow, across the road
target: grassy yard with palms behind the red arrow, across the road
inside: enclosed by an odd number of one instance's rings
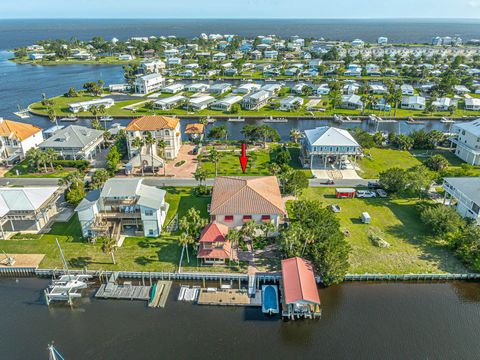
[[[271,151],[274,150],[278,145],[269,145],[268,149],[255,149],[248,151],[248,165],[247,170],[245,173],[242,173],[242,169],[240,167],[240,162],[238,157],[240,156],[240,148],[235,150],[227,150],[222,151],[220,148],[221,159],[218,162],[218,175],[219,176],[263,176],[263,175],[271,175],[271,171],[269,170],[269,165],[271,164],[273,158]],[[208,177],[215,176],[215,164],[210,162],[207,159],[208,149],[204,150],[204,158],[200,162],[200,166],[202,168],[207,169]],[[304,170],[299,160],[300,155],[300,148],[288,148],[290,152],[291,161],[290,166],[294,169],[305,171],[305,174],[308,177],[312,176],[310,170]]]

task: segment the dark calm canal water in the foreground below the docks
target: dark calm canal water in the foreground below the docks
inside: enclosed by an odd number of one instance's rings
[[[478,359],[480,284],[349,283],[320,290],[319,321],[260,310],[86,299],[43,304],[45,280],[0,280],[2,359]]]

